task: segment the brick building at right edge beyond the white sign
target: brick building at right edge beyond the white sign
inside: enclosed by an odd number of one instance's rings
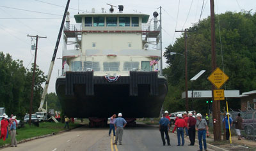
[[[241,111],[246,111],[247,108],[256,110],[256,90],[244,92],[239,97],[241,98]]]

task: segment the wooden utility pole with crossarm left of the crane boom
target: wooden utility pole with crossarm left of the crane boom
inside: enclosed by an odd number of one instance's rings
[[[33,77],[32,77],[32,84],[31,84],[31,95],[30,95],[30,108],[29,108],[29,126],[31,124],[31,114],[32,114],[32,104],[33,104],[33,92],[34,92],[34,86],[35,86],[35,69],[36,69],[36,54],[37,54],[37,44],[38,44],[38,38],[47,38],[45,37],[41,37],[41,36],[30,36],[28,34],[28,37],[33,37],[36,38],[36,51],[35,51],[35,60],[34,60],[34,68],[33,68]]]

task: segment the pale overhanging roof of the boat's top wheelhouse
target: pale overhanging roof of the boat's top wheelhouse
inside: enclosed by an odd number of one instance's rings
[[[81,13],[74,15],[76,23],[81,23],[83,17],[93,17],[93,16],[104,16],[104,17],[141,17],[142,23],[146,24],[148,22],[149,15],[143,13]]]

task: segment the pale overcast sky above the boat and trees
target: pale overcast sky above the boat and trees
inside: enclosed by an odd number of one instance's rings
[[[118,6],[124,5],[124,13],[133,13],[135,11],[146,13],[153,17],[153,12],[159,13],[159,7],[162,7],[162,27],[163,27],[163,53],[164,48],[173,44],[176,38],[180,37],[182,30],[191,27],[198,22],[202,11],[201,20],[210,15],[210,0],[95,0],[81,1],[70,0],[68,11],[70,12],[70,24],[76,24],[74,15],[78,12],[83,13],[95,8],[100,12],[101,8],[109,10],[106,4]],[[204,7],[202,9],[202,4]],[[9,53],[12,58],[22,60],[25,68],[31,68],[31,62],[34,62],[35,51],[31,50],[31,36],[47,36],[38,40],[38,54],[36,64],[48,74],[51,64],[52,54],[56,45],[58,32],[60,30],[61,20],[67,1],[65,0],[1,0],[0,3],[0,52]],[[225,13],[226,11],[239,12],[241,10],[252,10],[255,13],[255,0],[215,0],[215,13]],[[115,9],[115,12],[118,9]],[[48,93],[55,92],[55,82],[58,77],[58,71],[61,74],[62,57],[62,36],[58,48],[54,69],[52,71],[49,83]],[[163,68],[167,64],[163,59]],[[43,85],[44,87],[44,85]]]

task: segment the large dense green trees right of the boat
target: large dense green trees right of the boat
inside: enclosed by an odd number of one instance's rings
[[[250,11],[239,13],[226,12],[215,15],[216,18],[216,62],[229,76],[226,82],[227,90],[247,92],[256,89],[256,15]],[[220,28],[218,20],[220,20]],[[219,30],[220,29],[220,30]],[[211,90],[211,83],[207,76],[211,74],[211,19],[205,18],[200,24],[189,28],[188,32],[188,80],[199,71],[206,72],[192,83],[188,81],[188,89]],[[220,45],[220,34],[221,44]],[[223,52],[221,53],[221,47]],[[181,99],[181,92],[185,91],[185,59],[182,55],[170,55],[170,52],[184,54],[184,35],[173,45],[166,47],[164,57],[168,68],[164,75],[168,77],[169,91],[164,101],[164,110],[185,110],[185,101]],[[223,66],[222,56],[223,54]],[[223,86],[224,88],[224,86]],[[189,110],[205,113],[206,99],[189,100]],[[239,109],[239,99],[228,99],[230,108]],[[225,102],[221,102],[221,108]]]

